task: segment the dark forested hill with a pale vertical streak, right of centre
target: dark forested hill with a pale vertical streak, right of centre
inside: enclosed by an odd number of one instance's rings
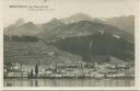
[[[84,61],[103,62],[108,57],[124,61],[135,60],[135,44],[108,33],[95,33],[85,36],[66,37],[48,43],[61,50],[79,55]]]

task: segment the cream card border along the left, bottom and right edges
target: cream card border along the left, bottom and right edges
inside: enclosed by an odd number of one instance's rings
[[[60,88],[55,88],[55,87],[3,87],[3,27],[2,27],[2,7],[0,5],[0,84],[1,84],[1,90],[139,90],[139,84],[140,84],[140,18],[139,18],[139,4],[140,4],[140,0],[136,0],[138,3],[136,3],[136,15],[135,15],[135,42],[136,42],[136,60],[135,60],[135,67],[136,67],[136,79],[135,79],[135,87],[70,87],[70,88],[66,88],[66,87],[60,87]]]

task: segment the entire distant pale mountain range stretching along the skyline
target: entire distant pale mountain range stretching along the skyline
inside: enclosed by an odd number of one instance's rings
[[[35,32],[34,31],[27,32],[27,30],[30,27],[27,27],[27,29],[23,27],[24,24],[26,24],[26,23],[24,22],[23,19],[19,19],[14,24],[12,24],[8,27],[4,27],[4,34],[5,35],[25,34],[25,35],[39,35],[39,36],[42,36],[42,35],[44,36],[47,34],[47,36],[50,37],[51,32],[54,32],[54,30],[59,29],[65,25],[78,23],[81,21],[89,21],[89,22],[96,22],[96,23],[114,25],[131,35],[135,35],[135,16],[133,15],[116,16],[116,18],[108,18],[108,19],[97,19],[97,18],[92,18],[85,13],[77,13],[69,18],[65,18],[65,19],[60,19],[60,20],[52,19],[51,21],[44,23],[44,24],[34,24],[31,29],[34,29]],[[20,31],[18,31],[19,27],[25,29],[24,30],[25,32],[21,31],[21,29],[20,29]],[[38,30],[38,32],[36,30]]]

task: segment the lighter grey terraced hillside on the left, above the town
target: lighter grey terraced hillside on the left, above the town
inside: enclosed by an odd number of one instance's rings
[[[59,50],[43,42],[4,42],[4,62],[34,65],[82,61],[81,57]]]

